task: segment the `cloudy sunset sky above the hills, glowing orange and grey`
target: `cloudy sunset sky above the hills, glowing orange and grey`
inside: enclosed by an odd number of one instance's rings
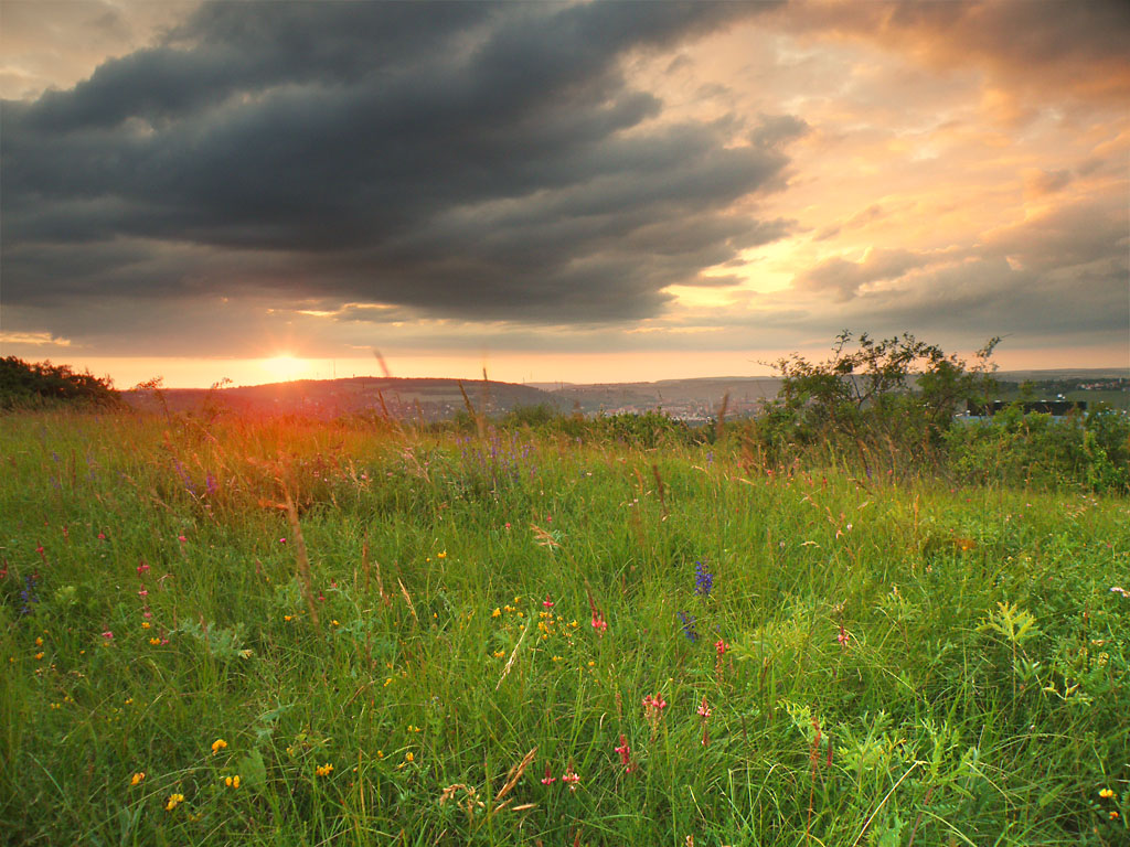
[[[1130,5],[0,0],[0,353],[1130,367]]]

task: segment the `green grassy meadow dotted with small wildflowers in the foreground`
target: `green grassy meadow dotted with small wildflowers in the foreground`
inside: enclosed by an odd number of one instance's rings
[[[1127,842],[1125,499],[347,422],[0,447],[0,840]]]

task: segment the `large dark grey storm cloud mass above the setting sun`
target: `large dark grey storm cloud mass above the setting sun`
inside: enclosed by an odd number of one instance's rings
[[[5,299],[654,314],[663,287],[789,233],[729,208],[784,186],[807,125],[657,121],[620,61],[766,8],[205,6],[72,89],[3,103]]]

